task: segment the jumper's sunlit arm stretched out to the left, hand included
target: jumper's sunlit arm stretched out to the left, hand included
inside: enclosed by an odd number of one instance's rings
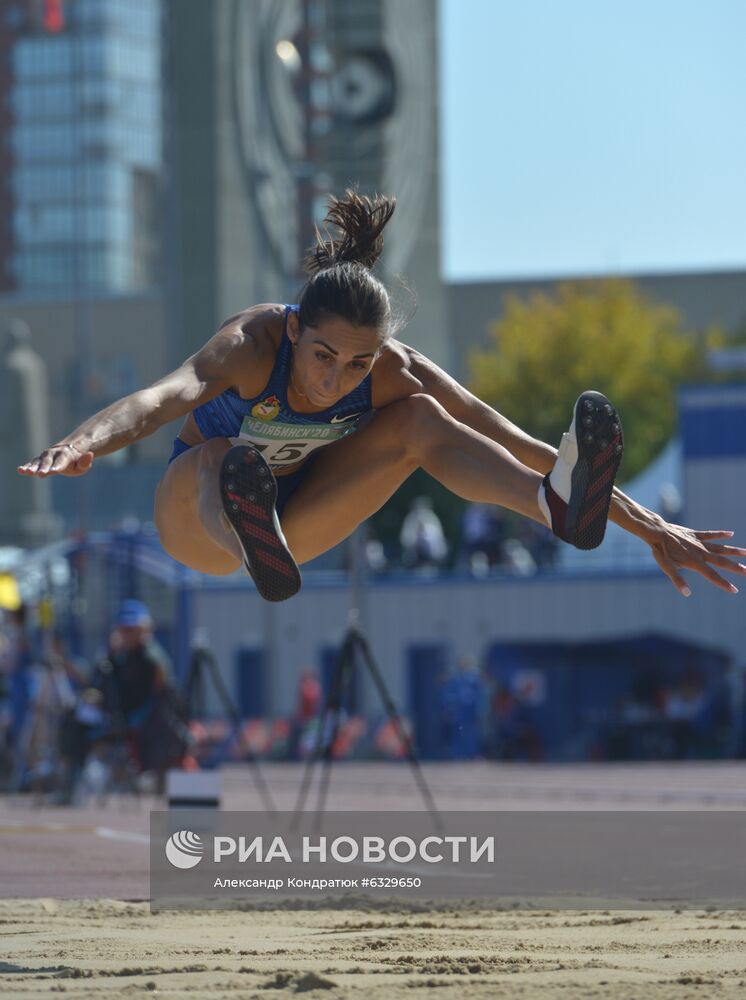
[[[27,476],[83,475],[96,455],[108,455],[139,441],[223,392],[235,380],[233,362],[238,351],[242,351],[243,364],[250,348],[251,341],[247,342],[240,322],[229,322],[175,371],[95,413],[19,466],[18,472]]]

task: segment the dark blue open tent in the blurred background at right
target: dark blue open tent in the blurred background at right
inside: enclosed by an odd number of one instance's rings
[[[494,684],[495,745],[509,759],[581,760],[645,756],[675,742],[676,726],[712,734],[727,712],[730,658],[662,635],[591,643],[495,643],[487,670]],[[694,689],[667,713],[665,696]],[[682,714],[684,713],[684,714]],[[616,743],[614,743],[616,741]],[[624,752],[622,749],[624,748]]]

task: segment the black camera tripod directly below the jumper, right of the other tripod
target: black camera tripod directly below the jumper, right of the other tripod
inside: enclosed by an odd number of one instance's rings
[[[329,778],[331,776],[331,767],[334,762],[334,744],[339,732],[345,693],[349,690],[353,673],[355,671],[356,661],[359,657],[365,665],[369,676],[373,680],[391,724],[393,725],[396,734],[404,747],[407,759],[412,768],[415,782],[420,790],[420,794],[427,811],[430,813],[436,828],[438,830],[442,830],[443,823],[440,814],[430,793],[427,782],[425,781],[425,776],[422,773],[420,763],[415,755],[414,748],[412,747],[412,741],[407,735],[407,731],[404,728],[401,717],[396,710],[391,694],[386,687],[381,671],[378,668],[378,664],[373,658],[370,643],[368,642],[365,633],[358,625],[358,620],[359,612],[356,609],[352,609],[349,613],[347,632],[342,640],[339,657],[337,658],[331,682],[329,684],[326,702],[319,718],[316,745],[306,762],[303,780],[298,793],[298,800],[295,805],[295,825],[297,826],[300,814],[306,803],[306,798],[308,796],[308,791],[313,778],[314,767],[319,761],[323,760],[318,797],[316,800],[316,824],[317,826],[320,825],[321,815],[323,814],[326,806],[327,792],[329,790]]]

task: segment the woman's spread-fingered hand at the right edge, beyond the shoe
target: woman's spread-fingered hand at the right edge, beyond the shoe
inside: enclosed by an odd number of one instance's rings
[[[650,546],[655,561],[684,597],[691,595],[680,570],[692,569],[716,587],[737,594],[738,588],[722,577],[713,566],[746,576],[746,566],[733,562],[746,556],[746,549],[734,545],[720,545],[716,538],[732,538],[732,531],[694,531],[681,524],[659,521],[655,529],[646,532],[645,541]]]

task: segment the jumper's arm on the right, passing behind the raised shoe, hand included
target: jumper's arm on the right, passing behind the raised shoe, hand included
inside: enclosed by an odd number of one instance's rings
[[[452,417],[501,444],[530,469],[542,474],[551,471],[557,457],[555,448],[526,434],[432,361],[410,348],[405,351],[409,358],[407,373],[419,383],[418,391],[434,396]],[[737,593],[736,587],[713,567],[746,576],[746,566],[733,562],[746,556],[746,548],[716,542],[731,538],[732,531],[695,531],[680,524],[669,524],[660,514],[643,507],[617,487],[614,487],[609,519],[647,542],[661,570],[684,597],[689,597],[691,590],[681,576],[682,569],[700,573],[729,593]]]

